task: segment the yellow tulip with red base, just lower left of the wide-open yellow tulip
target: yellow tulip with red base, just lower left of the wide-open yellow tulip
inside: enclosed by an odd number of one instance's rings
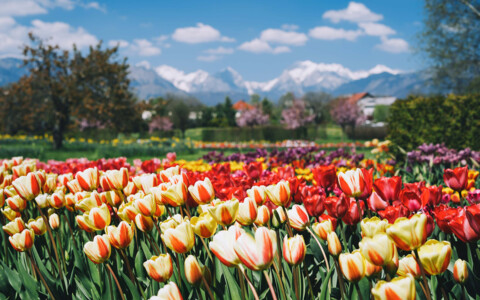
[[[379,233],[371,238],[364,237],[359,247],[365,259],[377,266],[385,266],[395,254],[395,244],[386,233]]]

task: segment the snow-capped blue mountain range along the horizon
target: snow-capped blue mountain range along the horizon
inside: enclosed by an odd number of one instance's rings
[[[26,73],[16,58],[0,59],[0,86],[17,81]],[[403,72],[384,65],[370,70],[352,71],[340,64],[301,61],[284,70],[278,77],[265,82],[247,81],[227,67],[210,74],[204,70],[186,73],[168,65],[150,68],[130,67],[130,79],[140,99],[164,96],[168,93],[190,95],[206,105],[223,102],[226,96],[235,102],[248,99],[254,93],[271,100],[292,92],[301,96],[307,92],[324,91],[332,95],[369,92],[373,95],[404,98],[410,93],[427,94],[430,76],[427,72]]]

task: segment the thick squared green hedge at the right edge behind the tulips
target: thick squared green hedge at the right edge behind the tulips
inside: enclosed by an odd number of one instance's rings
[[[390,107],[388,139],[405,150],[423,143],[480,149],[480,94],[414,97]]]

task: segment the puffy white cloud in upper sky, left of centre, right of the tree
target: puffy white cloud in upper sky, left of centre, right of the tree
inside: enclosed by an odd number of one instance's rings
[[[177,42],[198,44],[208,42],[234,42],[235,40],[229,37],[222,36],[220,31],[210,25],[197,23],[195,27],[183,27],[175,29],[172,38]]]

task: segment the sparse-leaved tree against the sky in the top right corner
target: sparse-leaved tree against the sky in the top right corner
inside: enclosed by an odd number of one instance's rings
[[[470,0],[426,0],[419,50],[436,85],[465,92],[480,74],[480,4]]]

